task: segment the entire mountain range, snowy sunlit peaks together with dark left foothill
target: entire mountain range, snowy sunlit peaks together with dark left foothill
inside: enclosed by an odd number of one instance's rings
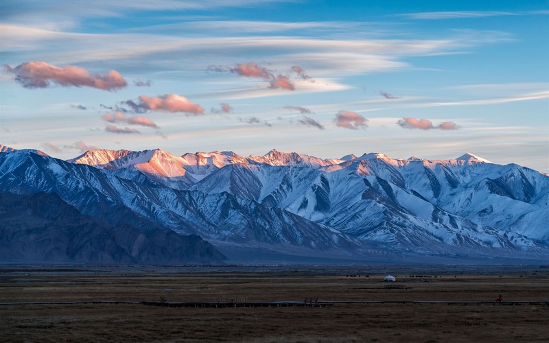
[[[62,161],[39,150],[0,145],[0,152],[3,259],[520,263],[549,256],[549,176],[474,154],[428,161],[89,150]]]

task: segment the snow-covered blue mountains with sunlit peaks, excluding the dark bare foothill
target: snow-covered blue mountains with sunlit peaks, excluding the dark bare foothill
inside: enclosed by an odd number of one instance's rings
[[[244,252],[241,260],[259,250],[363,261],[388,252],[455,259],[549,255],[549,177],[472,154],[426,161],[276,150],[247,157],[91,150],[60,161],[2,151],[5,194],[57,194],[112,227],[200,235],[223,252]]]

